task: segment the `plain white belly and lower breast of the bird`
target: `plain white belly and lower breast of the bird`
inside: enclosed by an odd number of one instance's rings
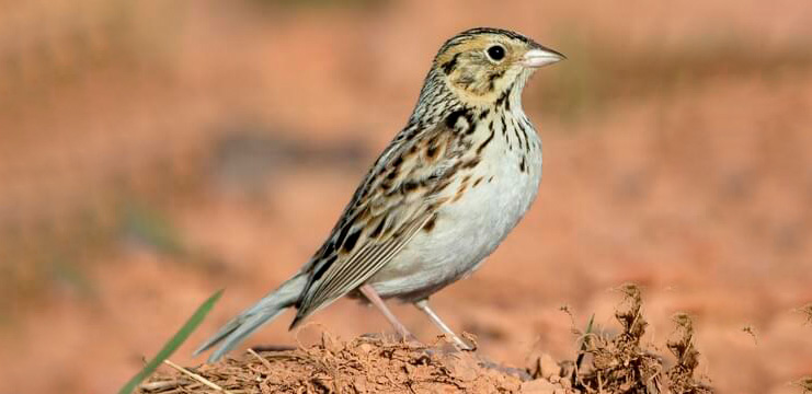
[[[421,230],[368,283],[381,297],[415,301],[472,273],[513,230],[538,194],[541,149],[536,132],[530,135],[529,142],[536,149],[524,153],[524,172],[517,147],[512,151],[502,143],[489,147],[472,176],[483,176],[479,185],[442,208],[435,228]]]

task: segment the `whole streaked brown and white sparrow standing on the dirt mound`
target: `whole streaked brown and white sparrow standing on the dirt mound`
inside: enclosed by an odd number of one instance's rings
[[[290,279],[195,350],[216,362],[287,309],[295,328],[348,296],[413,338],[384,300],[414,304],[460,349],[428,297],[469,276],[515,228],[541,179],[541,140],[522,107],[530,76],[565,56],[503,28],[446,40],[407,125],[358,185],[330,235]]]

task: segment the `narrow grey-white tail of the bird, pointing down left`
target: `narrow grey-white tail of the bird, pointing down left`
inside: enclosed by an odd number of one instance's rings
[[[297,274],[288,279],[278,289],[265,296],[253,306],[240,313],[224,325],[217,334],[208,338],[201,347],[195,350],[197,356],[215,345],[222,343],[208,358],[208,362],[215,362],[224,355],[229,352],[235,346],[241,343],[245,337],[255,332],[263,324],[271,322],[278,316],[285,309],[293,306],[299,299],[299,294],[305,290],[307,276]]]

